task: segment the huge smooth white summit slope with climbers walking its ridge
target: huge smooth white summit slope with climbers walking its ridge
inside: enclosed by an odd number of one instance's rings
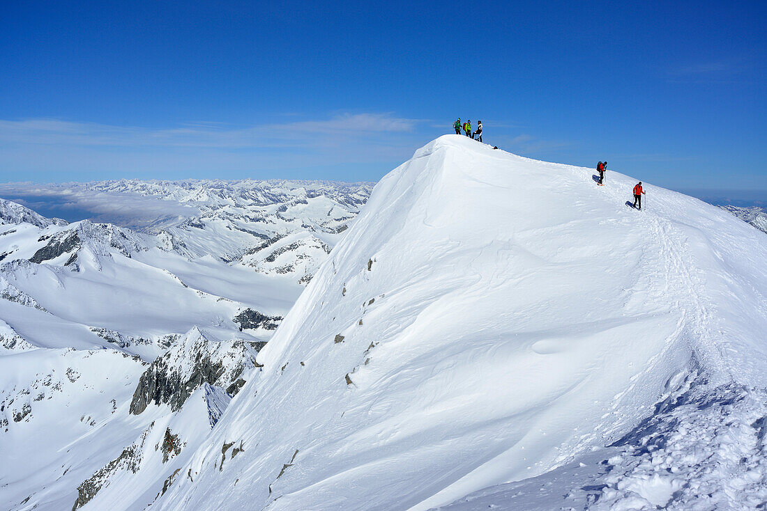
[[[765,387],[767,239],[652,185],[629,208],[635,182],[463,136],[418,150],[153,509],[429,509],[617,445],[695,372]]]

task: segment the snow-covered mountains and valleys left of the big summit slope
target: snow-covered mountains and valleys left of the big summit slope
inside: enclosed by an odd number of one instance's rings
[[[239,193],[226,182],[206,186],[216,200],[196,204],[212,216]],[[285,211],[259,216],[242,202],[210,228],[150,208],[175,226],[181,251],[169,249],[168,231],[67,224],[0,201],[0,509],[71,509],[75,501],[98,509],[138,488],[143,496],[125,505],[151,503],[231,395],[258,374],[258,349],[358,207],[350,200],[351,215],[337,211],[344,192],[336,203],[319,190],[260,186],[268,195],[260,207]],[[116,206],[133,200],[110,193]],[[295,208],[275,203],[294,195]],[[248,215],[252,221],[239,219]],[[279,215],[289,218],[278,224]],[[267,263],[281,253],[263,269],[222,257],[252,247]],[[173,452],[184,455],[166,460],[152,443],[158,435],[160,444],[175,438]]]

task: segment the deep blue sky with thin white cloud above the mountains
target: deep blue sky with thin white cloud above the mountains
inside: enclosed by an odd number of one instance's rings
[[[765,2],[373,3],[5,2],[0,182],[376,181],[460,116],[532,158],[767,190]]]

